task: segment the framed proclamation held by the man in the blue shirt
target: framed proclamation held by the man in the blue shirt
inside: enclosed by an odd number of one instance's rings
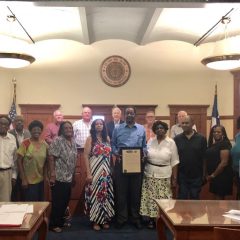
[[[142,148],[122,148],[122,173],[140,173]]]

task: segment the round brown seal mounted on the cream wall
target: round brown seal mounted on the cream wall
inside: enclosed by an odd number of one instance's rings
[[[100,74],[102,80],[107,85],[120,87],[128,81],[131,75],[131,68],[126,59],[114,55],[103,60]]]

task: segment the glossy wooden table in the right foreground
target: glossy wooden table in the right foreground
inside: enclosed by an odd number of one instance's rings
[[[240,210],[240,201],[232,200],[156,200],[159,207],[157,232],[167,240],[166,226],[175,240],[211,240],[213,228],[240,228],[240,222],[222,216],[231,209]]]

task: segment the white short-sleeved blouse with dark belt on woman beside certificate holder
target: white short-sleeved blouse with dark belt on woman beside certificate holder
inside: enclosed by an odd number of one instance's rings
[[[158,143],[157,138],[149,141],[148,160],[145,165],[144,174],[147,177],[170,178],[172,168],[179,163],[178,151],[173,139],[166,136]],[[151,165],[150,163],[154,164]],[[155,166],[164,165],[164,166]]]

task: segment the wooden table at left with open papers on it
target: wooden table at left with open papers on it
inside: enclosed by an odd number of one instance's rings
[[[30,240],[38,231],[38,239],[46,240],[48,232],[49,202],[24,202],[33,204],[33,213],[26,214],[19,227],[0,227],[1,240]],[[0,205],[3,203],[0,203]],[[11,204],[11,203],[8,203]]]

